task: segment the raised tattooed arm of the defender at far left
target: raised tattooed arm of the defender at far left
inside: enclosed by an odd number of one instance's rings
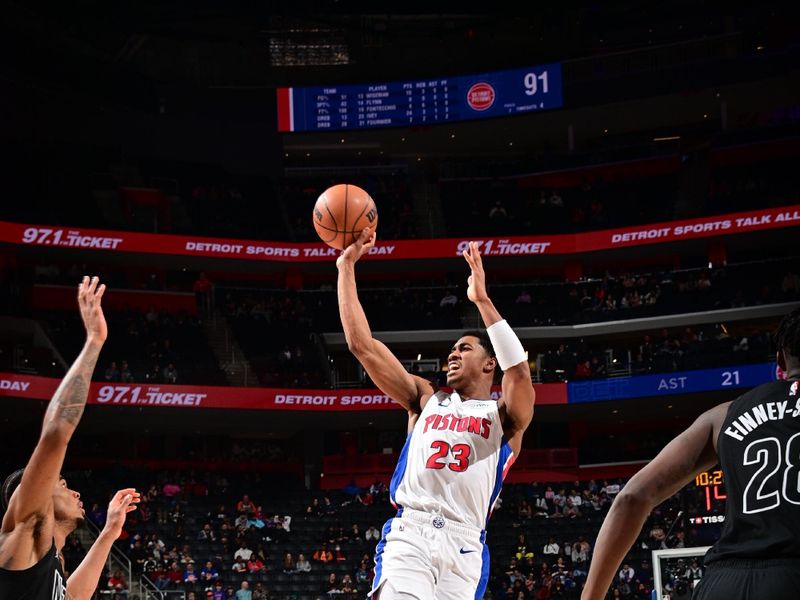
[[[86,329],[86,341],[47,407],[39,442],[9,505],[8,512],[14,523],[50,514],[53,488],[60,478],[67,444],[83,415],[92,373],[108,337],[100,304],[104,292],[105,285],[99,285],[97,277],[84,277],[78,286],[78,306]],[[12,525],[4,522],[5,527]]]

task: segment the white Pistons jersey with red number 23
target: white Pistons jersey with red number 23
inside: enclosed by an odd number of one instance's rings
[[[392,504],[485,529],[513,462],[497,402],[437,392],[400,453]]]

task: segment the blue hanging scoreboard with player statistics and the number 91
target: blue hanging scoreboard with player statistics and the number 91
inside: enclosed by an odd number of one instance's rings
[[[278,130],[434,125],[561,108],[561,65],[410,81],[278,88]]]

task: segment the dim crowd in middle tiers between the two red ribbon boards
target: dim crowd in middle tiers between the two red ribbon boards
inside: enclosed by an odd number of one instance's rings
[[[548,281],[490,283],[490,292],[515,327],[572,325],[603,320],[736,308],[800,300],[800,276],[793,258],[731,264],[714,269],[606,273],[576,283]],[[44,266],[37,278],[62,277],[63,269]],[[58,273],[58,275],[55,275]],[[142,272],[144,273],[144,272]],[[147,281],[178,282],[170,273],[132,275]],[[38,279],[37,279],[38,280]],[[206,283],[200,289],[199,284]],[[365,282],[360,290],[375,331],[469,329],[474,310],[463,285],[405,282],[381,287]],[[243,285],[243,284],[242,284]],[[153,284],[154,287],[156,284]],[[227,319],[259,384],[320,388],[335,381],[320,334],[341,331],[336,293],[330,284],[317,289],[269,290],[211,285],[200,274],[182,275],[203,310],[197,315],[155,307],[108,309],[113,335],[103,350],[95,377],[109,383],[225,385],[227,379],[211,349],[205,319],[216,307]],[[31,314],[17,307],[17,314]],[[15,311],[11,311],[14,314]],[[34,313],[61,356],[79,351],[78,316],[64,310]],[[27,339],[27,338],[26,338]],[[24,341],[24,340],[23,340]],[[44,346],[17,339],[4,341],[6,370],[58,376],[63,365]],[[763,328],[719,325],[647,331],[614,340],[568,338],[528,344],[532,370],[543,381],[563,381],[648,372],[744,364],[769,359],[770,339]],[[426,355],[441,349],[419,348]],[[344,358],[341,360],[345,360]],[[348,363],[349,364],[349,363]],[[348,368],[348,367],[345,367]]]

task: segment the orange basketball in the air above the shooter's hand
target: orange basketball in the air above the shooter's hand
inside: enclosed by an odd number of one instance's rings
[[[356,241],[365,227],[378,227],[378,208],[369,194],[357,185],[340,183],[317,198],[311,216],[319,239],[331,248],[344,250]]]

